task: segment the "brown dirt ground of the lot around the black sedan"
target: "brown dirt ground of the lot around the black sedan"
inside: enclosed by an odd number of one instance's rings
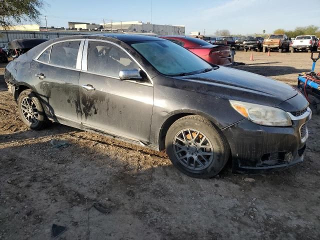
[[[235,68],[294,85],[309,56],[237,51]],[[0,239],[53,239],[52,224],[66,227],[54,239],[320,239],[319,115],[303,163],[194,179],[165,153],[60,124],[29,130],[16,112],[0,91]]]

